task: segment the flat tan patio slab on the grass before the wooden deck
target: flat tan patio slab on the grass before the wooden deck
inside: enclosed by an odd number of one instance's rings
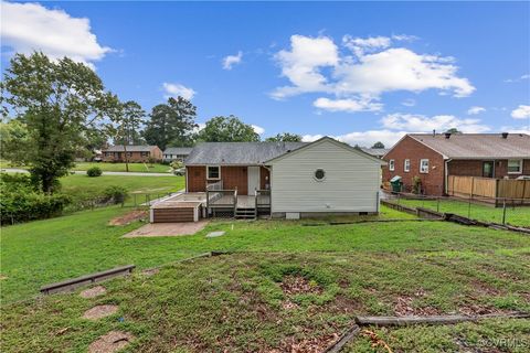
[[[127,233],[124,238],[155,237],[155,236],[182,236],[193,235],[202,231],[209,221],[182,223],[149,223],[138,229]]]

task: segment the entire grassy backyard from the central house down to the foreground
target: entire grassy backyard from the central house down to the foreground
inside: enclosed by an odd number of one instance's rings
[[[410,218],[382,211],[378,218]],[[130,352],[321,352],[356,314],[530,310],[530,237],[517,233],[445,222],[216,221],[193,236],[120,238],[139,226],[107,225],[124,212],[2,228],[2,351],[84,351],[120,330],[136,338]],[[211,231],[226,234],[205,238]],[[235,253],[141,274],[212,249]],[[104,296],[13,302],[43,284],[126,264],[136,275],[105,282]],[[118,312],[81,318],[104,303]],[[484,338],[528,342],[530,320],[377,332],[395,352],[479,351]],[[373,349],[360,338],[347,352]]]

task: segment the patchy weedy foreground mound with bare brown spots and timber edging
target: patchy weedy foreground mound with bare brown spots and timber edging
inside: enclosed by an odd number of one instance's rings
[[[438,259],[444,260],[449,259]],[[492,263],[499,260],[501,256],[492,255]],[[458,268],[463,267],[487,271],[480,260],[470,258],[462,260]],[[454,269],[413,253],[244,253],[200,258],[166,266],[150,277],[136,272],[106,281],[107,293],[94,299],[56,295],[4,306],[2,346],[6,352],[84,351],[99,335],[120,330],[136,336],[127,351],[290,351],[294,345],[308,351],[315,342],[329,344],[354,315],[393,314],[403,300],[418,311],[449,313],[470,300],[502,310],[491,297],[502,299],[505,293],[485,292],[475,277]],[[286,278],[293,276],[308,287],[285,290]],[[116,304],[119,311],[97,322],[81,319],[85,310],[104,303]],[[517,309],[528,306],[527,300]],[[455,344],[473,346],[480,335],[526,338],[528,324],[528,320],[489,320],[377,332],[396,352],[439,352],[441,347],[454,351]],[[369,343],[359,338],[348,350],[370,352]]]

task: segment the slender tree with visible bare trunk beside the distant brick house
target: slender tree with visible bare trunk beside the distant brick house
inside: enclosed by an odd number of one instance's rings
[[[135,138],[139,136],[138,131],[145,117],[146,111],[141,109],[141,106],[134,100],[128,100],[114,110],[114,114],[110,115],[110,122],[107,125],[107,131],[115,145],[124,147],[125,170],[127,172],[129,171],[127,146],[135,143]]]

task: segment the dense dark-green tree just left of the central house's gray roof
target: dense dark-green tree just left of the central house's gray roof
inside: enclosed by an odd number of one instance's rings
[[[144,130],[147,143],[165,150],[168,146],[186,147],[193,145],[197,107],[189,100],[177,97],[152,108],[150,120]]]

